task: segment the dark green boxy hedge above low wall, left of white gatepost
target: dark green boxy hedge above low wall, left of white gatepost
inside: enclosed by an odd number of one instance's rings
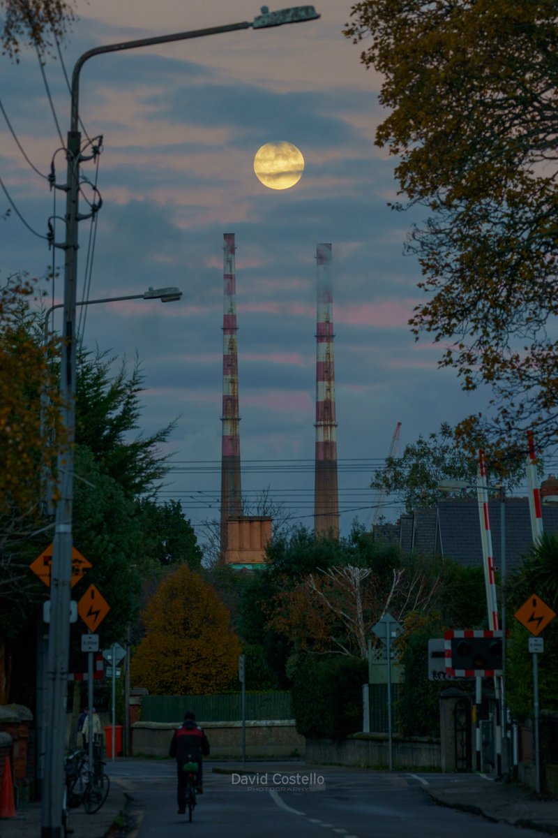
[[[362,685],[368,665],[361,658],[305,657],[294,672],[296,729],[308,738],[340,740],[362,730]]]

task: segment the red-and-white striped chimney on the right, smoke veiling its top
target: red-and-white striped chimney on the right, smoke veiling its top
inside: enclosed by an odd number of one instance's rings
[[[331,245],[318,245],[314,532],[339,538]]]

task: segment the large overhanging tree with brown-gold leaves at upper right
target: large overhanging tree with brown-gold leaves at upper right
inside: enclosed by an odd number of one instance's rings
[[[363,0],[346,36],[381,74],[376,144],[397,158],[397,209],[422,204],[408,249],[427,293],[410,320],[443,346],[463,389],[488,385],[460,423],[503,456],[558,435],[558,15],[550,0]]]

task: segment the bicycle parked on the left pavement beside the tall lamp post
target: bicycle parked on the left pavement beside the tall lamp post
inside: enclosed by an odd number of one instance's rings
[[[93,815],[105,803],[110,790],[110,779],[105,774],[105,763],[95,759],[90,771],[87,753],[83,750],[70,753],[64,761],[64,797],[62,801],[62,824],[64,838],[68,828],[69,812],[81,804],[88,815]]]

